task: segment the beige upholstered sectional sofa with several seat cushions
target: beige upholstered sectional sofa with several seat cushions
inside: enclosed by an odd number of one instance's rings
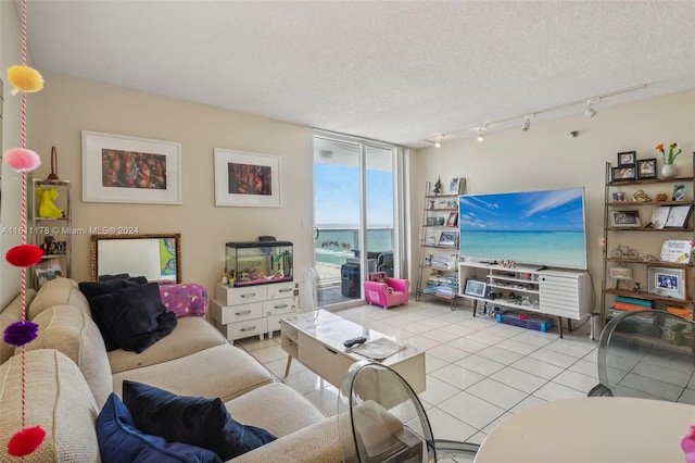
[[[181,396],[222,398],[231,416],[278,437],[235,462],[340,462],[338,424],[278,381],[245,351],[199,316],[142,353],[106,352],[77,284],[54,279],[27,292],[27,318],[39,325],[26,346],[26,426],[47,435],[27,462],[101,461],[96,418],[110,393],[130,379]],[[20,298],[0,313],[0,328],[20,320]],[[0,462],[14,462],[7,442],[21,429],[20,349],[0,349]]]

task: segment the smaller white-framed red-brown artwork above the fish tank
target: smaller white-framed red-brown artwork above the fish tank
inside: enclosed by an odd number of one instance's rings
[[[260,154],[215,148],[215,205],[280,208],[281,160]],[[248,177],[244,179],[244,175]],[[254,176],[254,180],[251,176]]]

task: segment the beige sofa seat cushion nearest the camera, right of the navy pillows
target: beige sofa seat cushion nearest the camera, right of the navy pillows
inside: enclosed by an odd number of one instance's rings
[[[231,416],[241,423],[262,427],[278,437],[292,434],[325,417],[304,396],[283,383],[261,386],[225,405]],[[278,410],[282,413],[278,413]],[[334,411],[336,403],[332,403],[331,410],[327,412]]]

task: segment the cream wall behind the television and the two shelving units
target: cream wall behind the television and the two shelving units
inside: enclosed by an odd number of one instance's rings
[[[433,183],[441,176],[447,184],[452,177],[466,177],[470,193],[584,187],[589,271],[599,298],[603,254],[598,239],[603,236],[605,163],[615,164],[618,152],[636,151],[637,159],[658,158],[660,168],[660,152],[654,147],[675,141],[683,148],[677,164],[681,174],[690,175],[691,153],[695,151],[695,91],[599,108],[593,118],[585,117],[579,110],[578,113],[572,117],[534,122],[526,133],[521,127],[491,132],[483,142],[475,138],[452,140],[439,149],[417,150],[410,170],[412,213],[418,221],[412,235],[414,259],[419,255],[421,198],[428,180]],[[572,138],[571,130],[578,130],[579,136]],[[660,240],[657,241],[656,249],[639,250],[658,255]]]

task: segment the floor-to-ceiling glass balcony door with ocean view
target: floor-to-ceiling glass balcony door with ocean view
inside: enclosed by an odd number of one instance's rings
[[[370,272],[397,275],[401,148],[314,135],[314,261],[318,306],[363,298]]]

